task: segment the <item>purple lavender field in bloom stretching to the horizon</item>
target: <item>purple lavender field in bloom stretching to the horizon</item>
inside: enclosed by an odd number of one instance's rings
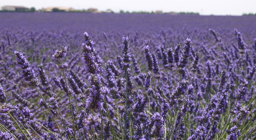
[[[0,140],[255,140],[255,16],[0,13]]]

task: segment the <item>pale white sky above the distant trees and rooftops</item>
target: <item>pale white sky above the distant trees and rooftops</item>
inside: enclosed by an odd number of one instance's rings
[[[75,9],[98,8],[124,11],[198,12],[201,15],[256,14],[256,0],[0,0],[0,7],[14,5],[24,7],[73,7]]]

